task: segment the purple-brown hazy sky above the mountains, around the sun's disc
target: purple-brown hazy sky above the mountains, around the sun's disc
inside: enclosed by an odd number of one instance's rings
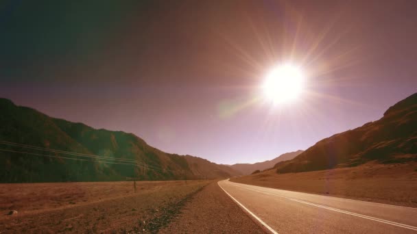
[[[416,92],[416,1],[1,1],[0,97],[221,164],[305,150]],[[272,105],[268,71],[299,66]]]

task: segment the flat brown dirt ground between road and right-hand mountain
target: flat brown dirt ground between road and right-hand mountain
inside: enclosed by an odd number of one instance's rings
[[[314,172],[268,170],[230,181],[391,205],[417,207],[417,163],[374,164]]]

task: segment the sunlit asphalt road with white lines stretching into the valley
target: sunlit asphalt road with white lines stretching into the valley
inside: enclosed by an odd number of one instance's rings
[[[417,233],[417,209],[219,181],[271,233]]]

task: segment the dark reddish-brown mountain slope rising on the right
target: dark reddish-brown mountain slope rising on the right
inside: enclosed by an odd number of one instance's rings
[[[348,167],[376,160],[381,164],[417,161],[417,93],[390,107],[383,117],[317,142],[277,172]]]

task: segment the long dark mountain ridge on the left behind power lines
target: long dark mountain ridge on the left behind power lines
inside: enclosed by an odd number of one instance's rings
[[[132,133],[51,118],[8,99],[0,99],[0,122],[0,182],[200,179],[240,174],[199,157],[165,153]]]

